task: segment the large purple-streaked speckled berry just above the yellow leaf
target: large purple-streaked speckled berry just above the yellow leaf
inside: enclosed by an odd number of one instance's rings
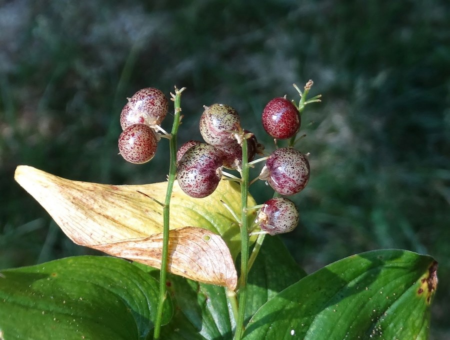
[[[221,165],[222,158],[212,145],[194,145],[178,162],[178,184],[191,197],[206,197],[214,192],[220,181]]]

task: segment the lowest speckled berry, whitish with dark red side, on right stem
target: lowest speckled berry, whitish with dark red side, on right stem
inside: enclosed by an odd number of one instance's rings
[[[290,199],[274,197],[264,202],[257,223],[270,235],[289,232],[298,224],[298,210]]]

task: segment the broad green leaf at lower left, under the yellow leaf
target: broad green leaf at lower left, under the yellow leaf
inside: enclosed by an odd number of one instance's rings
[[[144,339],[158,282],[131,263],[78,256],[0,273],[1,338]],[[172,314],[168,300],[163,322]]]

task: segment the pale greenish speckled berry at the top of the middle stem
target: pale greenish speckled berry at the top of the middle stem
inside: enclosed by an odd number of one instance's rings
[[[201,136],[206,143],[224,147],[233,143],[230,131],[239,129],[239,115],[228,105],[212,104],[204,107],[199,125]]]

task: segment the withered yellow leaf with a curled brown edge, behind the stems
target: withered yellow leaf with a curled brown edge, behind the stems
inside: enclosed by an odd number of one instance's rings
[[[164,201],[167,182],[119,186],[87,183],[60,178],[29,166],[18,166],[14,178],[48,211],[73,242],[119,257],[127,257],[125,254],[139,251],[139,258],[133,256],[128,258],[160,266],[160,259],[154,255],[158,253],[156,247],[160,250],[161,242],[152,245],[151,248],[155,251],[149,253],[147,257],[142,249],[147,248],[149,242],[153,241],[150,236],[160,238],[158,234],[162,232],[162,207],[156,201]],[[238,223],[220,201],[226,203],[235,214],[240,215],[240,190],[235,183],[220,181],[213,194],[201,199],[185,195],[176,182],[173,187],[170,229],[184,227],[207,229],[219,235],[225,242],[211,248],[209,245],[213,242],[203,241],[200,247],[203,250],[209,248],[207,251],[196,253],[196,259],[203,268],[206,264],[212,263],[208,261],[211,257],[221,257],[220,262],[232,265],[233,259],[240,251]],[[248,198],[248,205],[255,205],[251,197]],[[255,211],[252,210],[248,219],[251,221],[254,218]],[[181,231],[171,232],[170,235],[173,239],[188,239],[178,237],[180,233]],[[204,236],[201,230],[190,229],[189,233],[195,234],[197,238]],[[219,243],[220,240],[216,244]],[[179,242],[178,245],[177,254],[192,258],[190,246]],[[168,271],[182,273],[186,277],[202,282],[233,288],[236,280],[235,270],[231,270],[229,266],[226,265],[226,268],[212,266],[204,273],[200,273],[201,275],[198,275],[198,272],[190,275],[192,266],[182,268],[183,263],[172,257],[172,254],[169,253]],[[221,282],[216,279],[217,270],[224,275]],[[207,276],[208,273],[212,274]],[[218,276],[221,277],[222,274]]]

